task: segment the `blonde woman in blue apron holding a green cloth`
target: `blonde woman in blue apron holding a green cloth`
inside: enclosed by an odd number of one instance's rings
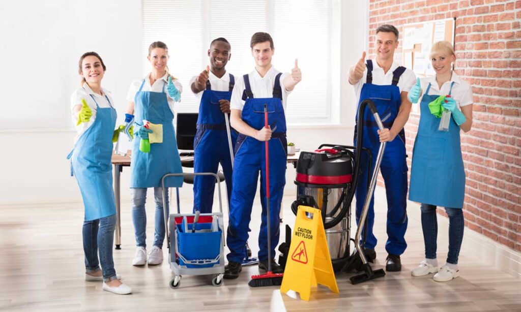
[[[459,276],[458,256],[465,227],[463,201],[465,168],[460,145],[460,130],[472,127],[472,86],[452,70],[454,48],[447,41],[431,49],[433,77],[418,79],[409,92],[412,103],[420,102],[420,122],[414,142],[409,199],[421,203],[421,227],[425,259],[412,270],[413,276],[436,273],[435,281],[450,281]],[[425,90],[423,92],[423,90]],[[449,216],[449,253],[438,269],[436,259],[437,206]]]

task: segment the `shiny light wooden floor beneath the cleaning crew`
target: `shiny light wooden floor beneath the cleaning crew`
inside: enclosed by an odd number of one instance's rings
[[[379,238],[376,267],[386,253],[385,212],[378,201],[375,232]],[[149,196],[152,198],[152,196]],[[384,195],[383,195],[384,198]],[[284,198],[284,223],[293,226],[289,210],[292,197]],[[184,207],[189,208],[188,200]],[[153,204],[147,203],[147,243],[152,244]],[[114,261],[122,281],[133,294],[120,296],[102,291],[101,282],[85,282],[81,225],[81,204],[2,206],[0,219],[0,310],[6,311],[200,311],[200,310],[324,310],[324,311],[521,311],[521,280],[490,269],[470,252],[460,256],[461,277],[438,283],[431,276],[412,278],[411,270],[424,257],[423,237],[417,206],[408,210],[408,248],[402,255],[403,269],[386,277],[352,285],[349,276],[339,274],[340,294],[325,288],[312,292],[311,301],[281,294],[276,287],[251,289],[247,267],[239,279],[222,287],[210,285],[210,278],[184,276],[179,289],[168,286],[172,274],[167,263],[154,267],[133,267],[133,227],[130,203],[122,207],[122,249]],[[254,208],[250,244],[256,254],[258,203]],[[439,217],[440,264],[444,264],[448,239],[447,222]]]

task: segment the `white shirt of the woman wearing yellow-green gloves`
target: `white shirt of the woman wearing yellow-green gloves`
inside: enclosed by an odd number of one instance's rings
[[[77,88],[75,92],[72,93],[70,97],[70,109],[72,112],[72,122],[74,123],[76,127],[76,131],[78,132],[78,135],[74,139],[74,142],[80,138],[80,136],[94,123],[94,120],[96,120],[96,102],[98,106],[101,108],[108,108],[108,107],[114,107],[114,99],[110,95],[110,92],[105,90],[104,88],[101,88],[101,92],[103,95],[99,95],[97,93],[94,93],[94,91],[89,87],[89,85],[85,82],[83,83],[83,86],[80,88]],[[91,95],[94,96],[94,101],[91,97]],[[108,97],[105,97],[105,95]],[[78,113],[74,113],[74,107],[77,105],[83,105],[81,100],[84,99],[85,102],[87,102],[87,105],[92,111],[92,117],[89,120],[89,122],[82,122],[79,125],[78,123]],[[110,102],[109,102],[110,101]]]

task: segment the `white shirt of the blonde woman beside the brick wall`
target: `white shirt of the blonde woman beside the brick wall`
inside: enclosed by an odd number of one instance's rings
[[[436,82],[436,76],[420,79],[423,94],[427,92],[427,87],[430,83],[429,95],[448,95],[452,82],[454,82],[454,86],[452,87],[451,97],[456,100],[458,108],[472,104],[474,102],[472,99],[472,86],[456,75],[455,72],[452,72],[451,80],[445,81],[441,85],[441,89]]]

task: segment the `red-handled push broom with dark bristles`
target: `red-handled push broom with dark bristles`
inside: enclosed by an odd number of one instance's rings
[[[264,105],[264,126],[268,127],[268,106]],[[253,275],[248,283],[250,287],[276,286],[282,284],[283,273],[271,271],[271,232],[269,226],[269,141],[265,141],[266,146],[266,220],[268,223],[268,271],[265,274]]]

